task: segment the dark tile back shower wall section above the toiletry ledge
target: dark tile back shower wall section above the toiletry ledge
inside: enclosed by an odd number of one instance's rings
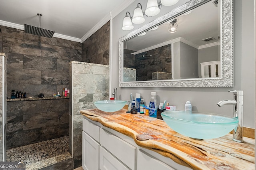
[[[82,43],[44,38],[0,26],[0,52],[7,58],[7,97],[12,89],[37,97],[69,87],[69,62],[82,61]]]

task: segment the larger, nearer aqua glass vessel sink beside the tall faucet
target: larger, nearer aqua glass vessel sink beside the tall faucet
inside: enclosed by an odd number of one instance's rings
[[[161,116],[174,131],[196,139],[219,138],[238,125],[234,117],[212,113],[164,111]]]

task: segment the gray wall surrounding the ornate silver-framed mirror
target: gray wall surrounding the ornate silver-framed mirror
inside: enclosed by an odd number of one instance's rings
[[[132,12],[139,1],[122,11],[112,20],[112,62],[110,89],[118,87],[118,40],[129,31],[122,30],[122,21],[127,11]],[[140,2],[142,7],[146,7],[146,2]],[[154,20],[160,15],[166,14],[172,8],[176,8],[184,3],[180,0],[174,6],[162,6],[160,14],[153,17],[146,17],[143,24],[134,24],[134,29]],[[132,31],[132,30],[131,30]],[[168,101],[171,105],[176,105],[176,109],[184,109],[186,101],[192,102],[193,111],[218,113],[232,116],[233,106],[226,105],[218,107],[216,103],[224,99],[233,99],[232,93],[228,90],[244,91],[244,126],[254,128],[255,109],[255,61],[254,61],[254,1],[234,0],[234,87],[210,88],[210,87],[118,87],[118,99],[129,100],[130,93],[141,93],[141,98],[146,104],[150,100],[150,92],[156,91],[157,102]],[[207,99],[207,100],[206,100]]]

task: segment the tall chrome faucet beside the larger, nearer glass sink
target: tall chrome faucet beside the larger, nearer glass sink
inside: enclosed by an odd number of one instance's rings
[[[238,125],[233,132],[233,140],[236,142],[244,142],[243,140],[243,96],[244,91],[229,90],[233,92],[234,100],[223,100],[217,103],[219,107],[223,105],[234,105],[234,117],[238,119]]]

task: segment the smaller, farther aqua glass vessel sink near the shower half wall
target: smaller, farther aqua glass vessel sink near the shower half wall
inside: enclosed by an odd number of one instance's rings
[[[102,100],[94,102],[94,105],[104,112],[115,112],[119,111],[124,107],[126,101],[122,100]]]

